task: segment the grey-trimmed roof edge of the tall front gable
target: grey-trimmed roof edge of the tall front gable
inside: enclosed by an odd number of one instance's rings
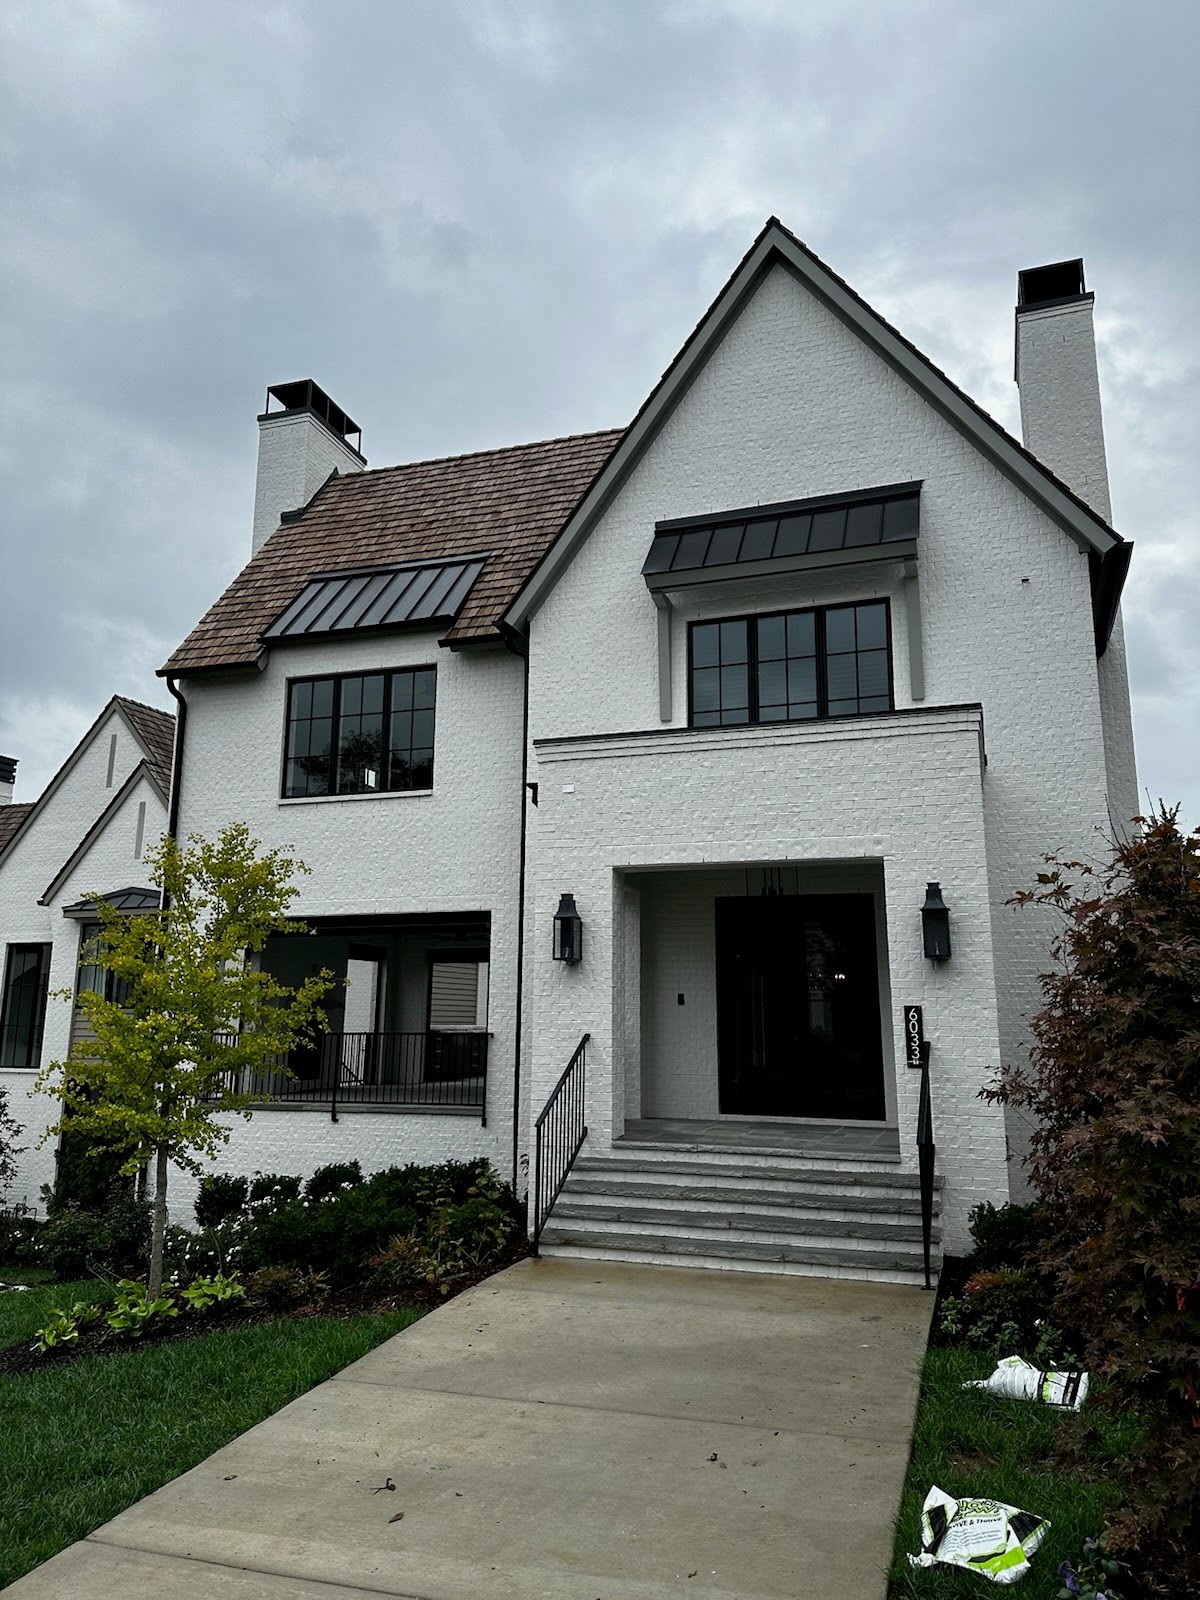
[[[989,416],[946,373],[898,333],[861,294],[802,243],[778,218],[768,218],[730,280],[688,336],[683,349],[648,395],[626,429],[621,443],[597,474],[581,502],[547,549],[536,571],[506,613],[512,627],[522,627],[541,605],[558,576],[573,560],[597,520],[611,504],[662,424],[691,387],[709,355],[723,339],[766,274],[782,266],[822,306],[854,331],[877,355],[898,371],[960,434],[1014,482],[1029,498],[1091,557],[1096,650],[1107,645],[1120,589],[1133,546],[1058,478],[1037,456]]]

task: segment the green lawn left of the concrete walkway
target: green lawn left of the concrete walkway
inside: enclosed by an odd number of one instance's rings
[[[0,1346],[93,1288],[0,1294]],[[0,1589],[419,1315],[269,1322],[0,1378]]]

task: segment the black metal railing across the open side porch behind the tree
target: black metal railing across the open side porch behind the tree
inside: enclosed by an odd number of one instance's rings
[[[264,1101],[477,1110],[486,1125],[488,1035],[322,1034],[288,1053],[285,1070],[230,1074],[229,1086]]]

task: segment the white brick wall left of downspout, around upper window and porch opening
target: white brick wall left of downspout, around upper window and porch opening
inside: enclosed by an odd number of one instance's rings
[[[437,666],[432,794],[280,800],[290,677],[422,664]],[[491,914],[486,1128],[478,1118],[397,1112],[347,1114],[330,1131],[328,1115],[322,1123],[317,1114],[274,1109],[237,1122],[216,1170],[253,1171],[269,1160],[307,1173],[358,1154],[350,1146],[363,1138],[370,1150],[386,1149],[384,1166],[486,1155],[512,1176],[522,662],[504,650],[440,650],[432,630],[323,640],[274,650],[261,674],[189,680],[184,693],[181,834],[211,837],[242,821],[264,846],[293,848],[312,869],[299,878],[298,917]],[[366,1166],[368,1155],[360,1158]]]

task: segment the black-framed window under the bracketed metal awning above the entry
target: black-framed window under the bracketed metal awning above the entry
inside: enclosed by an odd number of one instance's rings
[[[891,710],[886,600],[693,622],[693,728]]]

